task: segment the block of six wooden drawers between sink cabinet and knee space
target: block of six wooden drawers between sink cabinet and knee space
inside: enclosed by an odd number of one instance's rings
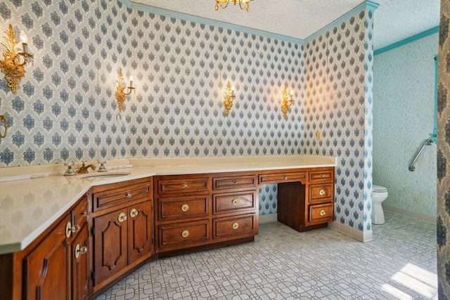
[[[157,252],[254,237],[257,176],[156,176]]]

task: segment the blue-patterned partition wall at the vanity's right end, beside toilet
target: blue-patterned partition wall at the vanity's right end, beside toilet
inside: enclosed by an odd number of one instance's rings
[[[342,22],[305,52],[303,152],[338,156],[336,221],[371,230],[373,12]]]

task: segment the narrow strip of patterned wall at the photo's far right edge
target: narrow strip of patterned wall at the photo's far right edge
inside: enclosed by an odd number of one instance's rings
[[[441,1],[437,93],[437,275],[439,299],[450,299],[450,0]]]

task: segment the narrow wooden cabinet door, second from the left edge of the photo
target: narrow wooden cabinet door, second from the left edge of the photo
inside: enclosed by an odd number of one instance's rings
[[[89,255],[87,223],[72,242],[72,299],[87,299],[89,292]]]

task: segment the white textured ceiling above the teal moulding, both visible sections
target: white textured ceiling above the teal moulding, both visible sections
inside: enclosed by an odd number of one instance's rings
[[[307,39],[345,15],[361,0],[254,0],[250,12],[238,6],[214,11],[214,0],[132,0],[201,18],[250,27],[296,39]],[[439,0],[375,0],[375,50],[439,25]]]

